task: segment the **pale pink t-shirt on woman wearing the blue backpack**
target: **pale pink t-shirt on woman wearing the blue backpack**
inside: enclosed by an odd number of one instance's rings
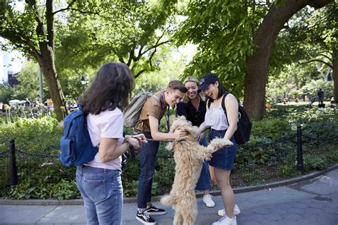
[[[98,115],[87,116],[88,132],[94,146],[100,145],[100,137],[118,138],[118,145],[123,142],[123,113],[120,109],[105,110]],[[93,161],[86,165],[104,169],[121,170],[121,157],[108,162],[102,162],[98,153]]]

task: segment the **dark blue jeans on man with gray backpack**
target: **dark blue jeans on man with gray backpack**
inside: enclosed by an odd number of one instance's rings
[[[145,138],[152,139],[150,133],[143,132]],[[140,178],[138,179],[138,210],[145,211],[147,204],[151,203],[151,186],[155,172],[156,154],[160,142],[148,141],[142,145],[138,152],[140,159]]]

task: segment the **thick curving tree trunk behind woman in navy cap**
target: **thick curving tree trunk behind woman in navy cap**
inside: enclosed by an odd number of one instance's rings
[[[270,8],[253,36],[253,43],[257,49],[252,56],[247,57],[244,107],[250,118],[262,120],[263,112],[265,112],[267,66],[272,46],[284,24],[307,4],[319,8],[329,2],[329,0],[286,0],[284,6]]]

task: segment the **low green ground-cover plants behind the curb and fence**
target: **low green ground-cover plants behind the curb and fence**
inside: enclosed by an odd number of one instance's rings
[[[296,125],[302,125],[304,170],[324,169],[338,162],[337,144],[333,137],[338,133],[337,110],[331,108],[295,110],[290,106],[274,116],[268,115],[261,122],[253,121],[252,136],[247,145],[240,145],[232,176],[240,177],[240,185],[295,177]],[[276,116],[276,117],[275,117]],[[76,168],[64,167],[58,162],[59,139],[62,128],[52,117],[19,118],[8,122],[0,118],[0,152],[8,149],[8,138],[16,138],[19,185],[16,189],[0,186],[0,196],[11,199],[77,199],[81,195],[76,188]],[[127,133],[131,131],[125,130]],[[161,142],[153,177],[153,194],[168,193],[175,176],[173,152],[165,150]],[[0,157],[0,164],[7,164]],[[3,167],[0,167],[4,174]],[[138,155],[123,168],[122,180],[125,197],[135,197],[139,177]],[[232,177],[233,178],[233,177]],[[233,181],[232,181],[233,182]],[[8,185],[5,182],[1,185]],[[237,184],[238,185],[238,184]],[[236,186],[238,187],[238,186]]]

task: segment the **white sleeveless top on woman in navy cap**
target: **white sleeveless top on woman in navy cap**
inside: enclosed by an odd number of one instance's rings
[[[205,113],[205,127],[210,127],[212,130],[227,130],[227,116],[222,107],[212,107]]]

